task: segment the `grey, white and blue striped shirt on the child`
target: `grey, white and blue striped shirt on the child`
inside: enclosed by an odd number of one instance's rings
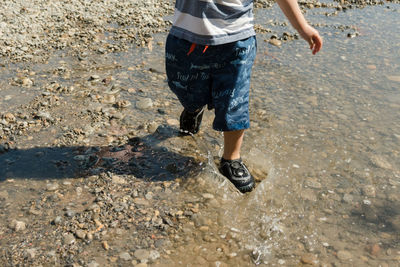
[[[255,35],[253,0],[176,0],[170,33],[200,45],[220,45]]]

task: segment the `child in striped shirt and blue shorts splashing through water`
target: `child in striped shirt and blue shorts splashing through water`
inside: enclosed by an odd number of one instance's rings
[[[277,0],[292,26],[310,45],[322,47],[296,0]],[[215,109],[213,128],[224,132],[220,172],[241,192],[254,179],[241,160],[244,130],[250,127],[250,75],[256,55],[252,0],[176,0],[166,42],[168,85],[184,110],[180,130],[196,134],[205,106]]]

